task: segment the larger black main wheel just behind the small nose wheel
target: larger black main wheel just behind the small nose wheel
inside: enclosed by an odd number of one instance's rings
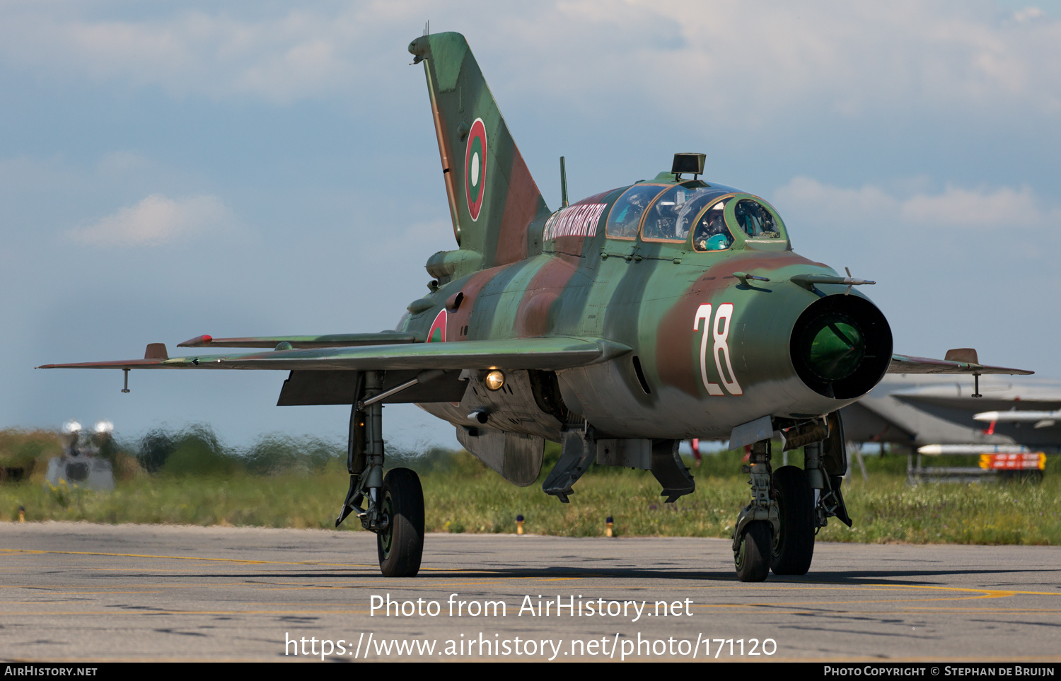
[[[773,471],[781,531],[773,538],[770,569],[775,575],[805,575],[814,558],[814,490],[806,472],[795,466]]]

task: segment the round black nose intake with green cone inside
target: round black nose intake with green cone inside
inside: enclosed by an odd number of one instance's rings
[[[793,366],[819,395],[846,400],[869,392],[891,363],[891,329],[869,300],[832,295],[803,311],[793,327]]]

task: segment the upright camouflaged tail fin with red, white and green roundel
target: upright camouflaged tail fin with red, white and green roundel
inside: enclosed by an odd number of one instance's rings
[[[424,35],[408,46],[423,62],[438,136],[453,233],[484,267],[527,257],[527,227],[549,214],[508,133],[479,64],[459,33]]]

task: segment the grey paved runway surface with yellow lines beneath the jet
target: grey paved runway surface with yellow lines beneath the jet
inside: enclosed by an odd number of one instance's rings
[[[430,535],[387,579],[363,531],[3,524],[0,659],[1058,661],[1059,559],[819,543],[752,584],[726,540]]]

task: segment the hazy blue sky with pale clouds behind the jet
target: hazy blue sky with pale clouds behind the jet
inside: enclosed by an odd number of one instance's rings
[[[46,371],[393,328],[454,247],[422,67],[464,33],[551,207],[675,152],[875,280],[898,352],[1061,378],[1061,2],[0,3],[0,427],[344,437],[285,372]],[[456,447],[415,406],[392,444]]]

